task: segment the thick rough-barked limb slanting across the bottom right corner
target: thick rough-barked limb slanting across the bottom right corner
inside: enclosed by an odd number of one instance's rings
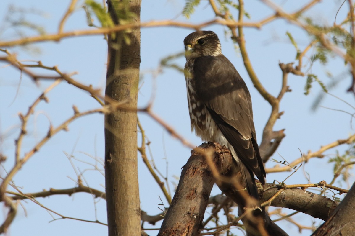
[[[355,183],[329,218],[312,236],[353,236],[355,234]]]

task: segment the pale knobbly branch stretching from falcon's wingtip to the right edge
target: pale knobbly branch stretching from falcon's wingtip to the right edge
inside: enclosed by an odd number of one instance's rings
[[[324,145],[319,150],[317,150],[315,152],[308,151],[307,154],[303,154],[302,157],[299,157],[298,159],[294,160],[293,162],[290,162],[290,166],[288,166],[288,165],[287,166],[280,166],[279,164],[277,164],[272,168],[266,168],[265,171],[266,171],[266,173],[292,171],[293,170],[292,166],[299,165],[302,162],[302,160],[303,160],[303,162],[307,162],[308,160],[310,160],[313,157],[322,158],[322,157],[324,157],[323,152],[325,152],[329,149],[335,148],[335,147],[342,145],[342,144],[354,143],[354,141],[355,141],[355,134],[351,135],[347,139],[338,139],[335,142]]]

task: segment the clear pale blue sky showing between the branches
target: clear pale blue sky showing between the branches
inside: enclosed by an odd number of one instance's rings
[[[286,11],[294,11],[306,2],[277,1]],[[58,23],[69,5],[69,1],[20,0],[16,4],[9,0],[3,1],[2,6],[4,7],[0,9],[2,22],[2,25],[0,25],[0,30],[2,30],[0,31],[0,40],[18,38],[16,31],[8,28],[6,22],[4,22],[5,13],[10,5],[40,10],[42,16],[27,14],[26,19],[44,27],[47,33],[54,33],[58,29]],[[314,18],[319,23],[332,25],[335,13],[340,5],[341,2],[338,0],[323,2],[308,11],[307,16]],[[174,19],[189,23],[201,23],[214,17],[207,1],[201,2],[190,19],[181,15],[183,7],[184,1],[178,0],[143,1],[141,21]],[[270,8],[259,1],[246,1],[245,9],[250,14],[250,21],[252,22],[273,13]],[[347,6],[340,9],[337,22],[344,19],[346,10]],[[16,18],[16,16],[12,15],[13,18]],[[64,30],[86,28],[88,27],[84,11],[77,7],[75,14],[68,19]],[[219,35],[222,52],[235,65],[249,87],[257,138],[260,143],[262,129],[271,108],[253,87],[243,66],[239,51],[229,38],[224,37],[225,29],[219,25],[204,28],[204,30],[213,30]],[[159,71],[159,63],[162,58],[184,50],[183,40],[192,31],[191,29],[176,27],[156,27],[141,30],[142,79],[138,104],[139,107],[146,106],[152,94],[154,94],[153,111],[182,136],[198,146],[202,143],[201,139],[190,131],[184,75],[169,68],[162,68],[160,73],[156,73]],[[307,46],[309,42],[307,34],[284,20],[269,23],[260,30],[245,29],[247,50],[253,67],[262,84],[273,95],[278,94],[281,86],[282,72],[278,66],[279,62],[295,62],[296,51],[285,35],[286,31],[294,36],[301,50]],[[34,35],[33,31],[24,30],[24,32],[26,32],[26,35]],[[9,50],[17,53],[20,60],[40,60],[44,65],[58,65],[58,68],[65,73],[76,71],[78,74],[73,78],[87,85],[92,84],[95,88],[101,88],[104,92],[107,44],[102,35],[63,39],[60,42],[45,42],[27,47],[10,48]],[[310,53],[315,53],[315,51]],[[310,55],[308,54],[308,58]],[[183,67],[185,58],[177,58],[174,62]],[[306,65],[309,66],[309,63]],[[317,74],[325,84],[331,82],[326,76],[328,71],[334,76],[339,76],[342,82],[330,92],[353,105],[354,96],[346,93],[346,89],[350,85],[348,70],[349,68],[344,65],[342,59],[333,57],[326,66],[315,63],[309,73]],[[48,74],[46,71],[35,71]],[[321,145],[347,138],[354,132],[350,115],[321,107],[316,111],[311,109],[312,103],[321,89],[319,85],[313,84],[311,93],[305,96],[303,94],[305,82],[306,77],[289,75],[289,86],[292,92],[285,94],[280,104],[280,110],[285,111],[285,114],[274,127],[275,130],[285,128],[286,137],[277,153],[273,155],[272,158],[274,159],[282,160],[280,158],[282,156],[284,159],[292,161],[300,156],[299,149],[304,153],[308,150],[316,151]],[[4,63],[0,64],[0,150],[8,158],[4,163],[4,168],[7,171],[13,165],[14,139],[19,132],[20,120],[17,114],[27,112],[28,106],[50,84],[50,81],[40,81],[38,85],[35,85],[27,76],[24,75],[21,78],[19,71],[6,66]],[[99,104],[87,92],[80,91],[65,82],[51,91],[48,98],[50,103],[41,103],[29,121],[28,136],[23,144],[22,153],[32,148],[41,137],[47,134],[50,124],[58,126],[70,117],[73,114],[72,105],[76,105],[80,111],[99,107]],[[353,108],[332,96],[326,96],[321,105],[354,113]],[[174,183],[178,183],[175,177],[180,176],[181,167],[190,156],[190,149],[170,137],[157,122],[146,114],[140,113],[139,119],[149,141],[151,141],[150,148],[155,164],[164,175],[167,172],[170,189],[173,191]],[[73,122],[69,126],[69,132],[57,134],[24,165],[14,178],[16,186],[20,187],[23,192],[37,192],[49,188],[72,188],[76,185],[72,179],[76,180],[76,172],[81,172],[85,178],[84,181],[89,186],[104,191],[104,177],[99,171],[93,170],[92,166],[97,164],[98,168],[103,169],[100,163],[95,161],[95,158],[104,158],[103,124],[103,115],[99,114],[86,116]],[[140,142],[139,138],[138,142]],[[342,152],[345,147],[339,147],[338,150]],[[335,150],[330,150],[326,154],[327,156],[323,159],[310,160],[304,165],[304,171],[300,169],[287,180],[286,184],[307,183],[304,172],[310,174],[312,183],[318,183],[321,180],[330,182],[333,172],[332,165],[328,165],[327,161],[329,157],[335,154]],[[73,160],[75,168],[72,167],[67,155],[73,155],[77,159]],[[92,165],[83,162],[89,162]],[[168,166],[166,166],[166,163],[168,163]],[[266,166],[272,167],[274,163],[269,161]],[[158,214],[160,213],[158,195],[163,198],[163,194],[148,173],[140,157],[138,157],[138,168],[141,208],[148,214]],[[2,169],[0,173],[2,176],[5,174]],[[272,183],[274,179],[282,181],[288,174],[268,174],[266,179],[269,183]],[[353,181],[354,177],[351,178],[350,183]],[[339,183],[336,182],[335,185],[339,186]],[[348,188],[346,185],[343,185],[343,187]],[[212,194],[219,193],[220,191],[217,188],[213,189]],[[95,220],[96,214],[98,220],[106,222],[105,201],[93,200],[89,194],[79,193],[70,197],[51,196],[45,199],[39,198],[38,201],[65,216]],[[163,203],[167,206],[164,198]],[[22,202],[22,205],[26,211],[19,206],[17,217],[10,227],[9,235],[102,235],[107,232],[106,226],[69,219],[60,219],[49,223],[52,218],[45,209],[30,201]],[[7,208],[3,205],[2,209],[0,221],[4,219],[7,213]],[[285,210],[285,212],[288,211]],[[58,216],[55,218],[58,218]],[[313,218],[301,213],[295,215],[294,219],[303,224],[310,224],[313,220]],[[316,224],[319,224],[321,221],[316,222]],[[145,223],[144,227],[156,228],[159,225],[158,223],[156,226],[151,226]],[[290,235],[299,235],[298,228],[294,225],[287,222],[279,223],[279,225]],[[240,232],[237,233],[241,235]],[[148,231],[148,234],[155,235],[156,232]],[[310,231],[304,230],[300,235],[310,235]]]

